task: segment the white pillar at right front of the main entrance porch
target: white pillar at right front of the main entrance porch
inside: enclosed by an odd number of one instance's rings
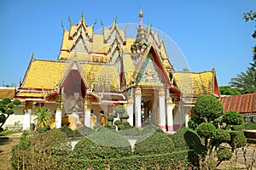
[[[165,91],[160,89],[159,91],[159,112],[160,112],[160,128],[166,131],[166,97]]]

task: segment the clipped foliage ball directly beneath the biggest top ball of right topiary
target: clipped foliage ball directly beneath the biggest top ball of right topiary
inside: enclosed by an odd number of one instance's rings
[[[196,127],[196,132],[203,138],[213,138],[216,133],[216,127],[211,122],[203,122]]]

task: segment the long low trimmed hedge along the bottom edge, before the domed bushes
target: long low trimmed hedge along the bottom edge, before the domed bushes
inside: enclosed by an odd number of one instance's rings
[[[67,158],[60,169],[187,169],[188,150],[148,156],[125,156],[110,159]],[[106,168],[107,167],[107,168]]]

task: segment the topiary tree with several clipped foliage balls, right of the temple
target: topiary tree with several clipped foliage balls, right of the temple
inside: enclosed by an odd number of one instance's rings
[[[230,128],[242,123],[241,114],[236,111],[224,113],[223,105],[214,96],[199,96],[194,113],[196,117],[189,120],[189,127],[204,139],[206,148],[205,156],[201,157],[201,168],[218,167],[222,161],[230,160],[236,148],[245,146],[244,134]],[[231,150],[220,147],[223,143],[230,144]]]

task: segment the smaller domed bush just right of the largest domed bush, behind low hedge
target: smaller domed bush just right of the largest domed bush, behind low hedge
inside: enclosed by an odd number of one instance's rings
[[[172,139],[157,132],[140,136],[134,146],[134,154],[140,156],[171,153],[173,150]]]

